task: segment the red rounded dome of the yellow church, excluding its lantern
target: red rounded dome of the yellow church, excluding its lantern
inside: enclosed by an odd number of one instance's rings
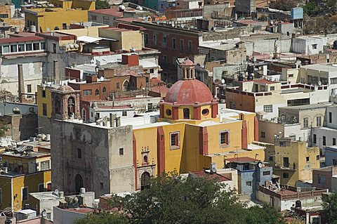
[[[211,103],[213,95],[209,88],[197,79],[177,81],[166,93],[164,102],[180,105]]]

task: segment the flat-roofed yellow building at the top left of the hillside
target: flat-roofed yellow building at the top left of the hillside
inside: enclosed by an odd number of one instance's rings
[[[34,25],[37,32],[64,29],[70,23],[87,22],[88,11],[95,9],[91,0],[49,0],[53,8],[32,8],[25,10],[26,27]]]

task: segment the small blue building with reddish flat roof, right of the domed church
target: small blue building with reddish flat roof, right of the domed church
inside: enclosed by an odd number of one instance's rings
[[[237,157],[226,159],[226,163],[226,168],[237,170],[238,192],[249,195],[251,199],[256,199],[259,185],[265,185],[266,181],[272,180],[272,167],[265,166],[258,159]]]

